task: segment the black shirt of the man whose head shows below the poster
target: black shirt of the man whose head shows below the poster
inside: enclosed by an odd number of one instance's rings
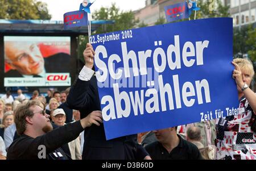
[[[196,145],[179,137],[179,144],[169,153],[159,141],[148,144],[145,149],[152,160],[200,160],[201,155]]]

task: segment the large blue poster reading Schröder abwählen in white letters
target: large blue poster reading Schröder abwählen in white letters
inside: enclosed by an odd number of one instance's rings
[[[106,139],[237,114],[232,18],[90,37]]]

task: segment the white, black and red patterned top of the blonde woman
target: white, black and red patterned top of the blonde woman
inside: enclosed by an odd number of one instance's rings
[[[238,115],[216,119],[217,160],[256,160],[256,133],[251,130],[255,119],[245,97],[241,98]]]

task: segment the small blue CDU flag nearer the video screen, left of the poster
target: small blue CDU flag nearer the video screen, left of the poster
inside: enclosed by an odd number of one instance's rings
[[[64,14],[64,30],[80,26],[88,26],[88,17],[85,11],[72,11]]]

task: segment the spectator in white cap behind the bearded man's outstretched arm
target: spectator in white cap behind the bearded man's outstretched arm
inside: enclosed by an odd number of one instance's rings
[[[52,121],[59,127],[65,125],[66,114],[63,109],[55,109],[52,114]],[[80,119],[79,119],[80,120]],[[68,149],[64,152],[71,156],[73,160],[81,160],[81,145],[80,137],[78,136],[75,140],[68,143]]]

